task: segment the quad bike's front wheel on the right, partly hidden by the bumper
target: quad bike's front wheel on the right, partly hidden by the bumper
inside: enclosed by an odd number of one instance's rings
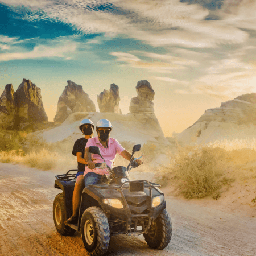
[[[163,250],[171,240],[172,224],[166,209],[152,221],[147,234],[143,234],[148,246],[153,249]]]

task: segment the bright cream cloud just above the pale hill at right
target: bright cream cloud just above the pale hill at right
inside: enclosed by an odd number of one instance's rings
[[[238,58],[212,61],[212,66],[204,70],[206,75],[192,80],[181,94],[206,94],[227,100],[238,95],[255,92],[256,65]]]

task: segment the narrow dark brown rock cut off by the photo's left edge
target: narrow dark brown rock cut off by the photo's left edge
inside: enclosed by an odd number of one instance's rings
[[[7,84],[0,97],[0,127],[12,129],[16,113],[16,97],[12,84]]]

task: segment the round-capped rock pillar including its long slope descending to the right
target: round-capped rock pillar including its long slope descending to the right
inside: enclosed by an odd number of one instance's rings
[[[141,122],[147,133],[154,136],[156,141],[162,144],[169,144],[154,113],[152,100],[154,100],[155,92],[152,86],[147,80],[141,80],[137,83],[136,91],[138,95],[131,99],[129,114]]]

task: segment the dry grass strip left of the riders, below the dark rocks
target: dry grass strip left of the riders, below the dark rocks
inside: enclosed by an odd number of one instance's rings
[[[34,133],[20,131],[10,137],[0,137],[0,162],[24,164],[41,170],[76,168],[76,158],[70,154],[73,144],[47,143]],[[68,144],[68,145],[67,145]],[[67,154],[69,146],[69,154]]]

